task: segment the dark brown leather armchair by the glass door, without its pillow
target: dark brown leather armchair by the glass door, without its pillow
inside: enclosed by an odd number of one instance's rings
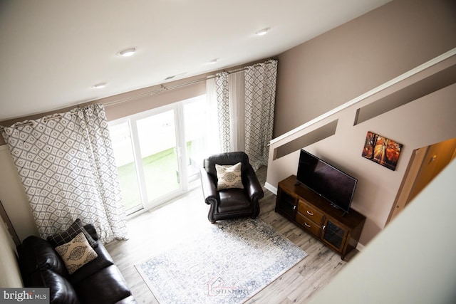
[[[215,164],[233,165],[241,162],[242,184],[244,189],[232,188],[217,191],[217,170]],[[201,183],[204,201],[210,205],[207,218],[211,223],[220,219],[233,219],[259,214],[259,199],[263,198],[257,175],[249,164],[249,157],[244,152],[215,154],[204,159],[201,168]]]

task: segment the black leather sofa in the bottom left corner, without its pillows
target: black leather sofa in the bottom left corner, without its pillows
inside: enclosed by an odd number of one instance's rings
[[[98,257],[71,275],[51,243],[38,236],[24,239],[18,247],[24,287],[49,288],[51,304],[136,303],[113,258],[98,241],[95,227],[88,224],[84,229],[96,241],[93,249]]]

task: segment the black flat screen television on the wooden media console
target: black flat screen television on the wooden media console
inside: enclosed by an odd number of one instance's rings
[[[296,180],[332,206],[345,212],[350,210],[357,179],[324,162],[315,155],[301,150]]]

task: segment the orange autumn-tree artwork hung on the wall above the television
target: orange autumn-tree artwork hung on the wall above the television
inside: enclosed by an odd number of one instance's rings
[[[403,145],[373,132],[368,132],[362,156],[395,170]]]

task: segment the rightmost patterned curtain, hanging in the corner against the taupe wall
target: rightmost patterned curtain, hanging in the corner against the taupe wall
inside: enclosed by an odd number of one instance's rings
[[[274,127],[277,61],[247,67],[245,75],[245,151],[252,167],[267,166]]]

